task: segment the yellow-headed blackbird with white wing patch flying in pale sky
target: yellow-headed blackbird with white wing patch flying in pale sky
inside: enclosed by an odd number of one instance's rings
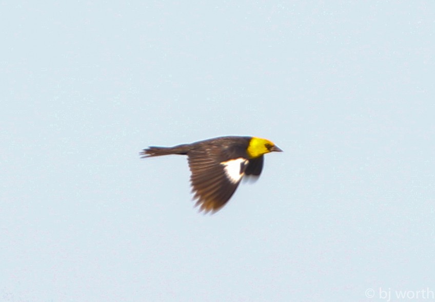
[[[199,212],[214,213],[228,202],[244,176],[260,176],[264,154],[282,151],[267,139],[223,136],[173,147],[149,146],[140,155],[187,155],[195,206]]]

